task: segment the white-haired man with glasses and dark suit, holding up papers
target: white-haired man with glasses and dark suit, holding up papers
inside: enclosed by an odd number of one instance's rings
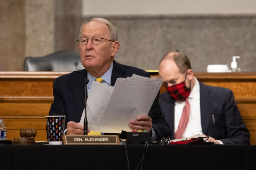
[[[66,115],[67,135],[83,134],[83,125],[79,124],[79,121],[84,109],[85,83],[83,79],[85,77],[89,78],[87,94],[90,92],[92,81],[96,78],[102,78],[102,83],[114,86],[119,77],[131,77],[133,74],[150,77],[142,69],[121,65],[114,61],[114,56],[119,49],[117,39],[116,28],[103,18],[93,18],[81,26],[78,49],[85,69],[54,80],[54,102],[49,111],[49,115]],[[152,140],[159,141],[163,136],[171,134],[157,98],[148,115],[135,117],[127,122],[127,126],[131,131],[152,130]]]

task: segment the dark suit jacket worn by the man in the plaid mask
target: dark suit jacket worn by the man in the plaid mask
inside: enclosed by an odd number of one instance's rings
[[[199,84],[203,133],[224,144],[250,144],[250,134],[234,101],[233,92],[227,88]],[[173,132],[171,139],[174,139],[175,100],[165,92],[160,95],[159,104]]]

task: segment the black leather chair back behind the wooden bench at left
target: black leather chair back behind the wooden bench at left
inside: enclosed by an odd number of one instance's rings
[[[75,71],[84,69],[80,55],[72,51],[58,51],[43,57],[26,57],[24,71]]]

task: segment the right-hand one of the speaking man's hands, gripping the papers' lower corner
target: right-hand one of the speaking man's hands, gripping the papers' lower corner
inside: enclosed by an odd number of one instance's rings
[[[150,131],[152,127],[152,119],[147,115],[140,115],[137,116],[136,119],[131,119],[128,126],[131,128],[131,130],[135,131]]]

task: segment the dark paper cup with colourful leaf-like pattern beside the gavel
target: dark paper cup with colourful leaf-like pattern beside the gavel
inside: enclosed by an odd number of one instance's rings
[[[66,116],[46,116],[48,141],[62,141]]]

